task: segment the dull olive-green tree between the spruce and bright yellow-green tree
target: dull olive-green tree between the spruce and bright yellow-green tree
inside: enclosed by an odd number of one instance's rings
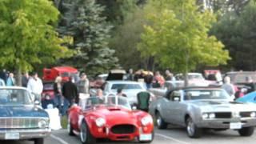
[[[143,23],[146,23],[143,10],[138,9],[133,16],[126,18],[122,26],[118,26],[114,38],[110,40],[110,46],[116,50],[115,54],[120,65],[126,70],[148,68],[146,62],[148,58],[141,58],[140,51],[137,49],[138,42],[141,42],[140,35],[143,32]]]

